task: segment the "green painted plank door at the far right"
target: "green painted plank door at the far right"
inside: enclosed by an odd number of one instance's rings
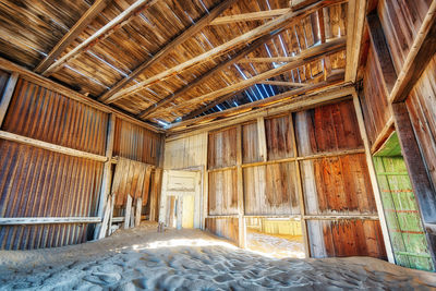
[[[409,268],[434,270],[396,133],[374,155],[374,166],[396,263]]]

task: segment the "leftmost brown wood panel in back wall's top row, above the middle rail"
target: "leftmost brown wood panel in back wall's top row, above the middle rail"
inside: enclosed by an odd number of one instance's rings
[[[208,168],[237,165],[237,128],[209,133]]]

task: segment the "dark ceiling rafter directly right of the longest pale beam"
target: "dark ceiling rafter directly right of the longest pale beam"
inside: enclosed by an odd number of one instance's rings
[[[168,96],[164,97],[161,100],[159,100],[158,102],[149,106],[148,108],[143,110],[141,113],[138,113],[137,118],[141,119],[141,118],[144,118],[144,117],[150,114],[152,112],[156,111],[158,108],[171,102],[172,100],[174,100],[174,99],[179,98],[180,96],[182,96],[183,94],[185,94],[187,90],[190,90],[193,87],[202,84],[203,82],[205,82],[206,80],[211,77],[215,73],[220,72],[221,70],[232,65],[233,63],[237,63],[241,58],[245,57],[250,52],[252,52],[255,49],[257,49],[258,47],[261,47],[266,40],[271,39],[279,32],[280,31],[278,31],[277,33],[271,34],[271,35],[266,35],[266,36],[261,37],[259,39],[253,41],[250,45],[250,47],[245,47],[244,49],[240,50],[235,56],[233,56],[233,58],[228,59],[228,60],[219,63],[217,66],[215,66],[214,69],[211,69],[207,73],[203,74],[201,77],[196,78],[192,83],[183,86],[182,88],[177,90],[174,94],[168,95]]]

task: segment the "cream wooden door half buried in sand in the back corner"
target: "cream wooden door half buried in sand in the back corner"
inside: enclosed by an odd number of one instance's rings
[[[166,215],[160,215],[159,221],[178,229],[199,228],[199,184],[198,171],[165,170],[160,211]],[[170,217],[169,213],[172,213],[173,217]]]

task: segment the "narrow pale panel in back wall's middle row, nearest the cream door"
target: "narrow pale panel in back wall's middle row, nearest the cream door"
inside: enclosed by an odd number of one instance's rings
[[[208,185],[209,215],[237,215],[237,170],[209,172]]]

